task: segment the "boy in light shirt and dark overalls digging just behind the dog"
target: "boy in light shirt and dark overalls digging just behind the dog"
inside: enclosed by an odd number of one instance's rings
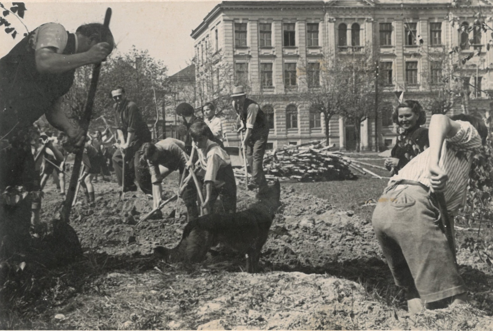
[[[234,213],[236,212],[236,181],[231,160],[224,149],[208,139],[209,132],[209,127],[202,121],[190,126],[190,136],[199,157],[196,165],[202,168],[206,186],[202,208],[212,212],[215,200],[221,194],[224,211]]]

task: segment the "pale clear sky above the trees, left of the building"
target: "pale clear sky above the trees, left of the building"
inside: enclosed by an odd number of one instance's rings
[[[11,2],[1,1],[10,8]],[[74,33],[79,25],[103,23],[106,8],[111,7],[110,29],[117,43],[116,54],[126,53],[133,48],[147,49],[149,55],[162,60],[168,67],[168,75],[184,69],[193,56],[193,39],[190,34],[204,17],[220,1],[43,1],[25,2],[24,24],[29,31],[47,23],[60,23]],[[0,31],[0,57],[22,39],[26,28],[12,14],[5,17],[15,27],[15,39]],[[1,27],[3,30],[3,26]],[[115,52],[113,52],[115,53]]]

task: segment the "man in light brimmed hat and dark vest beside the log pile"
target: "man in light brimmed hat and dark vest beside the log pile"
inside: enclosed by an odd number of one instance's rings
[[[269,137],[267,117],[255,101],[246,97],[243,86],[235,86],[231,98],[233,98],[233,109],[241,123],[238,132],[245,132],[242,148],[246,150],[246,158],[251,169],[251,182],[248,183],[248,189],[253,190],[267,185],[263,169],[264,153]]]

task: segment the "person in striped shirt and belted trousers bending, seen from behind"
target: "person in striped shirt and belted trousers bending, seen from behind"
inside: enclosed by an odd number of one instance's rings
[[[410,312],[467,301],[446,216],[464,206],[472,159],[487,135],[473,116],[431,116],[430,147],[390,178],[378,201],[373,227]]]

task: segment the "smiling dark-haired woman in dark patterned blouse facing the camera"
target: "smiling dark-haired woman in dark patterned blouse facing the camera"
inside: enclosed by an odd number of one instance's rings
[[[404,129],[397,136],[385,167],[391,175],[396,175],[411,159],[428,148],[428,129],[421,127],[426,123],[426,112],[418,101],[406,100],[399,104],[392,114],[392,121]]]

